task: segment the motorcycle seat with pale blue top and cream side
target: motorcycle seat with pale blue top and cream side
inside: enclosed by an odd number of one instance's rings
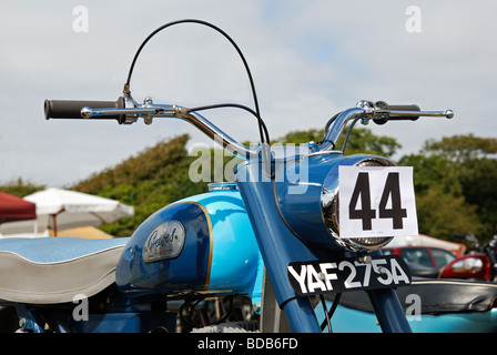
[[[0,239],[0,300],[54,304],[90,297],[115,282],[128,240]]]

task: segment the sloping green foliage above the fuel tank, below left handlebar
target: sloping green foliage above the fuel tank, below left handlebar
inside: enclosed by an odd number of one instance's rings
[[[206,183],[189,179],[192,158],[185,149],[187,140],[189,135],[181,135],[160,142],[72,189],[133,205],[134,216],[101,227],[115,236],[131,235],[153,212],[187,195],[207,191]]]

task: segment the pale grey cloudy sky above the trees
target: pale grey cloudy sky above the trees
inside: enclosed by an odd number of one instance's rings
[[[372,125],[395,138],[402,154],[417,152],[427,139],[497,138],[494,0],[4,0],[0,183],[22,178],[68,186],[164,139],[190,133],[192,144],[207,142],[179,120],[124,126],[43,116],[45,99],[115,100],[140,43],[185,18],[210,21],[237,42],[272,138],[321,129],[361,99],[455,111],[450,121]],[[236,52],[195,24],[170,28],[149,42],[131,90],[136,101],[150,95],[184,106],[253,106]],[[251,115],[221,111],[204,114],[241,141],[257,140]]]

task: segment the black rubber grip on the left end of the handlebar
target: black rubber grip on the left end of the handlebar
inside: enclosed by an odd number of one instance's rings
[[[124,98],[116,101],[83,101],[83,100],[45,100],[44,118],[50,119],[82,119],[81,109],[89,106],[91,109],[124,109]],[[123,115],[102,115],[99,119],[118,120],[123,122]]]

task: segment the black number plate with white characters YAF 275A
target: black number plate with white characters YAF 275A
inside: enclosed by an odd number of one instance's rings
[[[409,268],[397,255],[375,256],[367,264],[356,258],[295,262],[288,264],[287,274],[301,296],[410,284]]]

